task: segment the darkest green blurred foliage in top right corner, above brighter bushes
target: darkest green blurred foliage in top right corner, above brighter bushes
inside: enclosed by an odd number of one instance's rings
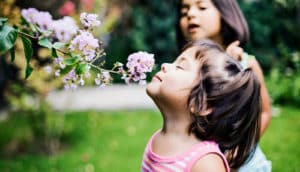
[[[300,48],[300,3],[283,3],[286,1],[239,0],[251,34],[246,50],[257,56],[267,72],[278,67],[277,62],[285,61],[282,47],[288,48],[289,53]]]

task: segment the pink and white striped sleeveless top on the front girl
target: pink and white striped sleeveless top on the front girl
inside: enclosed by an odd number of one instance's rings
[[[218,145],[213,141],[202,141],[194,145],[190,150],[174,157],[162,157],[152,151],[152,142],[156,132],[149,140],[142,161],[142,172],[190,172],[193,165],[209,153],[219,155],[229,172],[229,165]]]

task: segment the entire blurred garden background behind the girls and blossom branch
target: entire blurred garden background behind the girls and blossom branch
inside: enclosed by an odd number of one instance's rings
[[[260,62],[273,105],[260,145],[272,171],[300,172],[300,1],[238,2],[251,31],[245,51]],[[177,56],[176,0],[0,0],[0,17],[18,23],[29,7],[56,19],[98,14],[94,34],[104,42],[108,68],[140,50],[154,53],[158,66]],[[144,87],[116,79],[102,90],[90,81],[65,92],[43,71],[49,52],[33,46],[27,80],[20,42],[14,63],[0,55],[0,171],[139,171],[147,139],[162,123]]]

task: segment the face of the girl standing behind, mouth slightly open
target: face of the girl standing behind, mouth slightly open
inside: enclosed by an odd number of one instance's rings
[[[221,41],[221,14],[211,0],[182,0],[180,29],[186,40]]]

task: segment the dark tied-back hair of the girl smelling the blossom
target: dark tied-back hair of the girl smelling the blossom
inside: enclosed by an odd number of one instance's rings
[[[213,140],[226,150],[231,168],[240,167],[259,140],[261,97],[259,80],[251,69],[208,40],[190,42],[200,60],[200,81],[188,98],[189,132]],[[216,61],[216,59],[218,59]],[[210,109],[211,112],[203,115]]]

